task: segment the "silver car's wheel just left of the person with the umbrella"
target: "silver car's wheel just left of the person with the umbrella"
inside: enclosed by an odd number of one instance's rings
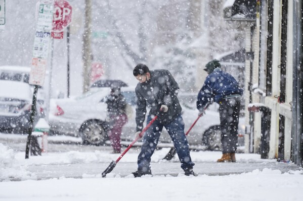
[[[108,140],[108,136],[102,121],[90,120],[82,124],[80,129],[80,135],[83,140],[83,144],[91,145],[104,145]]]

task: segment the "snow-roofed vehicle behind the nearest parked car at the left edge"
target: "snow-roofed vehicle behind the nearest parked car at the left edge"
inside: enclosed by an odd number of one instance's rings
[[[29,82],[30,66],[19,65],[2,65],[0,66],[0,80],[4,81],[16,81],[16,82]],[[28,84],[29,85],[29,84]],[[30,85],[30,89],[33,94],[33,85]],[[38,115],[44,117],[45,108],[45,90],[43,87],[39,87],[37,93],[37,105]]]

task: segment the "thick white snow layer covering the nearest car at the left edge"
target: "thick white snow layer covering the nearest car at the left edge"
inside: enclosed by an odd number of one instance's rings
[[[0,80],[0,97],[16,98],[31,101],[32,92],[29,84]]]

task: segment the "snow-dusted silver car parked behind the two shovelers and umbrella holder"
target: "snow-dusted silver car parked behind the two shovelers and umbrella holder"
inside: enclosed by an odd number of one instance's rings
[[[133,141],[136,129],[136,102],[135,87],[122,87],[121,93],[126,102],[131,105],[128,111],[128,122],[123,126],[121,140]],[[81,137],[83,143],[93,145],[106,144],[108,137],[106,133],[107,105],[104,98],[110,93],[110,88],[95,88],[81,96],[70,99],[52,99],[50,112],[50,126],[53,133],[63,133]],[[180,103],[183,108],[182,116],[185,122],[185,131],[198,117],[195,107],[196,95],[180,94]],[[204,145],[205,149],[220,150],[220,117],[218,106],[212,105],[206,114],[200,118],[187,136],[191,146]],[[168,143],[171,139],[163,129],[159,143]]]

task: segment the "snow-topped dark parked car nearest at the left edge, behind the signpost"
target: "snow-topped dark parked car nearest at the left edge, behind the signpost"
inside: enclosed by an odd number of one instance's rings
[[[3,80],[0,80],[0,86],[0,130],[27,133],[32,103],[30,86],[24,82]],[[36,116],[35,122],[38,118]]]

